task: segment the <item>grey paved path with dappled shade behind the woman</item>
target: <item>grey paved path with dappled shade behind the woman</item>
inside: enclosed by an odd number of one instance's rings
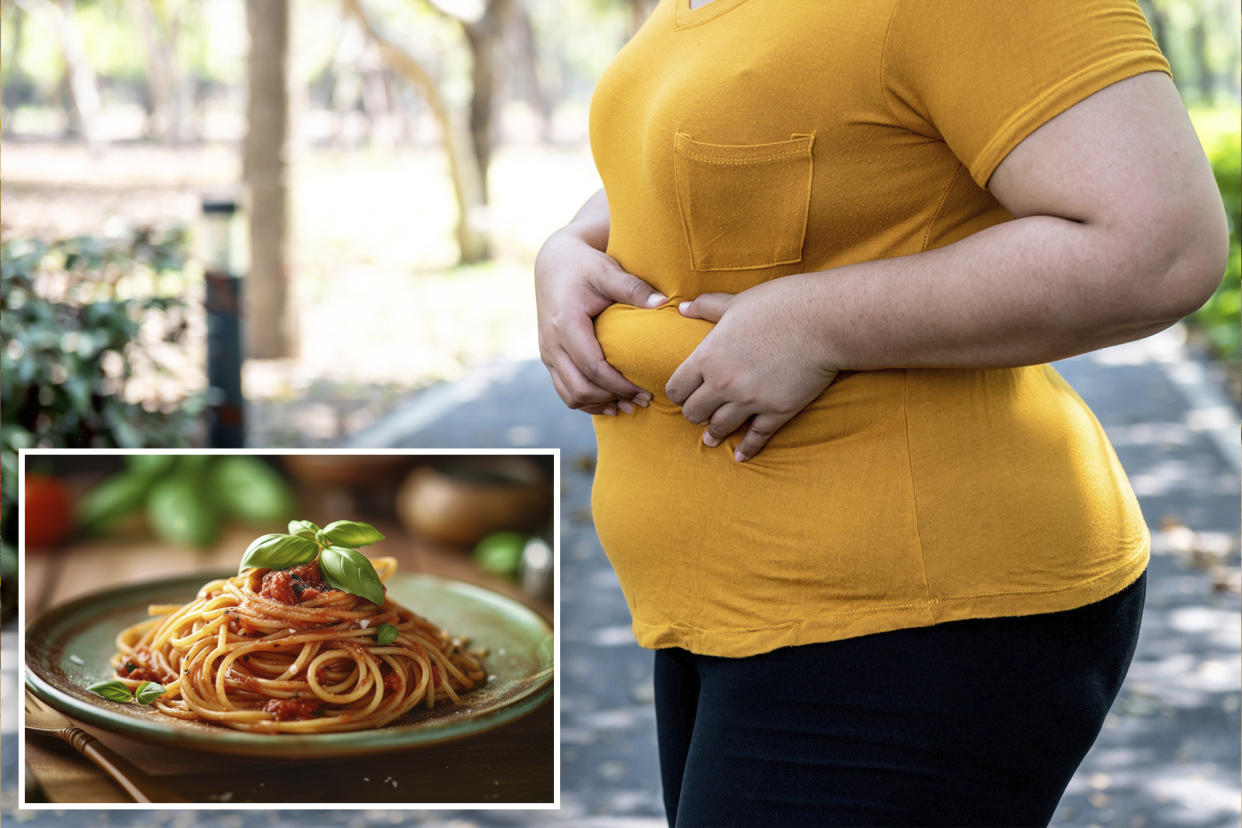
[[[1201,381],[1174,334],[1058,365],[1114,441],[1156,529],[1148,610],[1134,665],[1054,826],[1164,828],[1240,824],[1242,606],[1230,583],[1240,533],[1237,413]],[[663,824],[651,713],[651,657],[628,614],[587,513],[594,439],[537,362],[481,369],[414,397],[355,442],[401,447],[560,447],[561,780],[553,812],[414,812],[419,824]],[[1165,519],[1187,529],[1160,531]],[[1225,547],[1223,557],[1212,550]],[[1217,590],[1215,585],[1226,587]],[[5,636],[5,714],[14,695],[14,632]],[[16,793],[16,740],[4,725],[5,816]],[[24,813],[22,817],[30,814]],[[41,812],[37,826],[385,826],[388,812],[148,814]]]

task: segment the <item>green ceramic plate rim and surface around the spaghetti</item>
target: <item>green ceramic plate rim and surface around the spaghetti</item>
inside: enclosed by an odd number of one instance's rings
[[[240,756],[323,758],[405,750],[484,732],[543,704],[553,690],[553,633],[520,603],[460,581],[395,575],[389,595],[433,623],[487,648],[489,679],[460,708],[414,714],[400,725],[344,734],[250,734],[170,719],[150,708],[108,701],[86,688],[112,677],[122,628],[147,618],[150,603],[184,603],[221,575],[140,583],[56,607],[26,631],[26,683],[70,716],[138,739]]]

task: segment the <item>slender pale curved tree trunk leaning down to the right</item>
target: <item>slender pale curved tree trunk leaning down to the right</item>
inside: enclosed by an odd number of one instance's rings
[[[344,0],[345,11],[358,21],[375,43],[380,47],[380,57],[389,68],[409,81],[422,93],[436,123],[448,158],[448,175],[453,182],[453,195],[457,197],[457,246],[463,263],[482,262],[488,257],[487,236],[481,225],[484,209],[483,175],[478,160],[472,151],[473,142],[452,115],[448,104],[440,94],[436,82],[422,65],[404,48],[384,37],[366,16],[360,0]]]

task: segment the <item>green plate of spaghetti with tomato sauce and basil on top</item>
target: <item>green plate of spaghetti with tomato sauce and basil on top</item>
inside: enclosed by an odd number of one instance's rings
[[[314,529],[330,536],[338,524]],[[237,574],[114,588],[43,613],[26,632],[27,684],[108,730],[268,757],[460,739],[551,695],[551,629],[522,603],[399,575],[394,559],[356,546],[312,551],[284,538],[256,540]]]

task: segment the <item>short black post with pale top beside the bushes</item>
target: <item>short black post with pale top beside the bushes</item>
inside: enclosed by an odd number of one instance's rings
[[[202,200],[202,257],[207,310],[207,441],[212,448],[246,444],[241,392],[242,274],[232,258],[237,202]]]

